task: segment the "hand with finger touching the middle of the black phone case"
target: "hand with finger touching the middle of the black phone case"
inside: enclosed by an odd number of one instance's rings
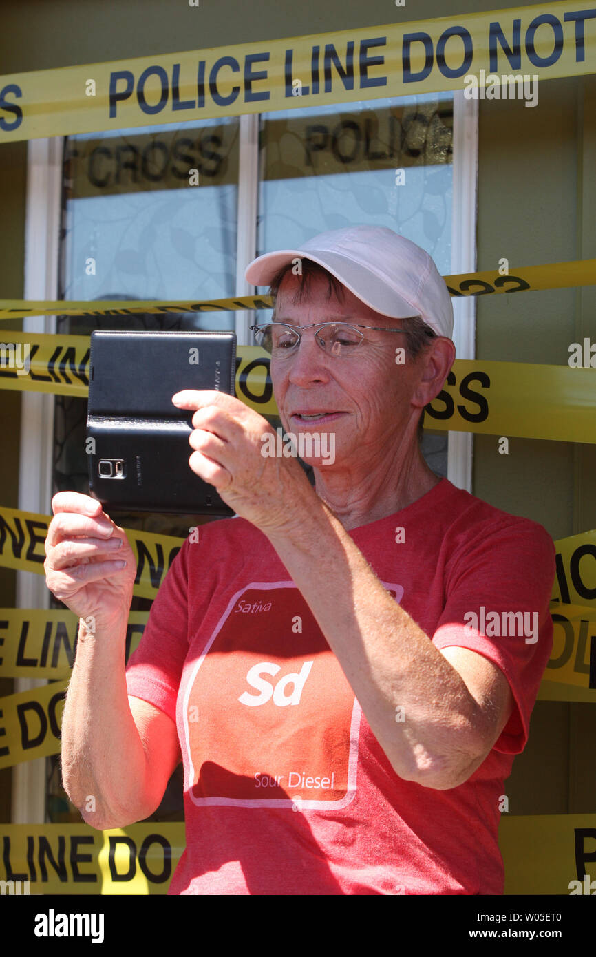
[[[262,415],[226,392],[184,389],[172,402],[196,410],[188,436],[195,475],[265,534],[299,523],[302,502],[316,493],[295,456],[263,455],[261,436],[276,432]]]

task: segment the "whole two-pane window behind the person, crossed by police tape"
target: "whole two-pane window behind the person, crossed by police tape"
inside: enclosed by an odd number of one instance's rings
[[[444,275],[473,269],[474,108],[474,101],[459,94],[425,95],[69,137],[57,298],[250,294],[243,272],[254,256],[355,223],[388,226],[408,236],[430,252]],[[464,319],[456,326],[458,355],[464,343],[463,357],[472,358],[473,302],[454,305]],[[260,311],[258,318],[269,315]],[[58,317],[55,331],[235,328],[239,343],[248,344],[254,312],[117,319]],[[88,490],[85,415],[85,400],[55,397],[57,489]],[[448,442],[445,432],[425,436],[424,454],[438,474],[448,474],[456,460],[463,462],[461,474],[469,476],[471,436],[459,446],[456,438],[451,434]],[[33,457],[21,464],[41,471]],[[184,536],[197,518],[119,513],[118,521]],[[133,600],[133,610],[148,606]],[[57,757],[48,759],[48,772],[48,818],[77,821],[60,786]],[[156,819],[183,819],[181,772],[180,766]]]

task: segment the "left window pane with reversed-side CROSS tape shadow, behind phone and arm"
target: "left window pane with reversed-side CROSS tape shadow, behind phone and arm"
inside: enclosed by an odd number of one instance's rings
[[[60,298],[207,300],[235,294],[237,118],[69,137],[63,169]],[[193,172],[194,171],[194,172]],[[192,182],[198,185],[191,185]],[[58,317],[58,333],[93,329],[233,329],[231,311]],[[86,399],[55,397],[55,491],[88,494]],[[190,451],[190,450],[189,450]],[[186,537],[197,516],[114,512],[124,528]],[[133,598],[133,611],[150,601]],[[53,607],[61,607],[53,599]],[[184,820],[183,769],[156,820]],[[47,817],[80,820],[48,759]]]

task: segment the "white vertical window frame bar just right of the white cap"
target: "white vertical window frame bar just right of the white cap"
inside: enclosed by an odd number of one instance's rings
[[[478,171],[478,101],[453,91],[452,274],[476,267],[476,196]],[[453,342],[457,359],[475,359],[475,297],[453,297]],[[430,425],[429,425],[430,428]],[[449,433],[447,478],[472,492],[474,434]]]

